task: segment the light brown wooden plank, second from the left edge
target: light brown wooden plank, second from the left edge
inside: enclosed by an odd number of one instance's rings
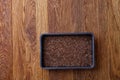
[[[24,80],[25,39],[23,33],[23,0],[12,1],[13,79]]]

